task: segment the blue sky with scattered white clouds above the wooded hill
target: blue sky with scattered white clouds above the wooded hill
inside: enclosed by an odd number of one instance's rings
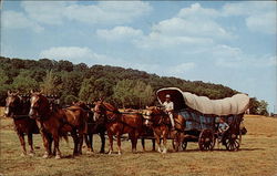
[[[274,1],[3,1],[1,55],[219,83],[277,113]]]

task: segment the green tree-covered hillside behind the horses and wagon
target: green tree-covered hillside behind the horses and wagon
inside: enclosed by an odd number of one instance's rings
[[[4,105],[8,90],[18,90],[22,94],[42,90],[44,94],[58,95],[61,104],[94,102],[103,97],[119,107],[140,108],[154,104],[155,91],[165,86],[176,86],[214,100],[238,93],[222,84],[158,76],[119,66],[0,56],[0,105]],[[250,113],[265,113],[258,111],[263,102],[252,99],[252,104]]]

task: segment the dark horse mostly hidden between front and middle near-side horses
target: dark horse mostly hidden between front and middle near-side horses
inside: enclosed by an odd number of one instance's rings
[[[88,152],[93,152],[93,134],[99,134],[101,138],[101,149],[100,153],[105,152],[105,124],[104,121],[95,121],[93,117],[93,112],[84,102],[78,102],[74,105],[82,107],[86,115],[86,131],[84,135],[84,141],[88,147]]]

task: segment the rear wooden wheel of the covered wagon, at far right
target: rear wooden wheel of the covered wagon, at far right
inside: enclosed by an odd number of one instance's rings
[[[235,134],[235,133],[229,133],[225,141],[224,141],[224,145],[226,146],[226,148],[228,151],[238,151],[239,146],[240,146],[240,142],[242,142],[242,132],[239,132],[239,134]]]

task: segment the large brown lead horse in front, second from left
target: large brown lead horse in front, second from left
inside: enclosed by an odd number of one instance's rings
[[[44,158],[51,155],[51,135],[54,141],[55,158],[61,158],[60,137],[71,132],[74,141],[73,155],[82,154],[83,134],[85,132],[85,113],[80,106],[50,108],[50,103],[41,93],[32,93],[29,115],[41,125],[41,135],[45,148]]]

